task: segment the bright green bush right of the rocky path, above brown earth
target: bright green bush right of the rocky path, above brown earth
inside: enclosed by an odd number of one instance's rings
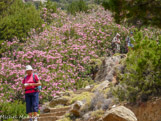
[[[114,89],[120,100],[146,101],[161,94],[161,37],[159,43],[137,34],[134,51],[128,53],[125,70],[120,75],[121,86]]]

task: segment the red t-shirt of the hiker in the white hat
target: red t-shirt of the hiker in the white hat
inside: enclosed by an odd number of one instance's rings
[[[35,77],[35,81],[38,82],[38,80],[39,80],[38,76],[35,74],[34,77]],[[23,79],[22,84],[35,83],[35,81],[33,79],[33,74],[31,74],[31,75],[27,75],[26,78]],[[35,87],[36,86],[27,86],[25,89],[33,89]],[[37,92],[37,91],[34,89],[25,91],[25,93],[33,93],[33,92]]]

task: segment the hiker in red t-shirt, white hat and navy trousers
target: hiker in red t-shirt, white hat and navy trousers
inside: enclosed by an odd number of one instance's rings
[[[26,73],[27,76],[22,81],[22,88],[25,89],[26,113],[29,115],[29,121],[37,121],[39,106],[39,91],[37,86],[40,86],[41,82],[38,76],[33,73],[30,65],[26,66]]]

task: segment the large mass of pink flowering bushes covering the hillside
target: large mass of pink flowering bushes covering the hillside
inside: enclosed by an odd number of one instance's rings
[[[40,101],[91,83],[90,60],[107,56],[115,34],[120,33],[124,41],[131,29],[115,24],[103,8],[76,16],[58,9],[50,20],[51,25],[43,24],[40,34],[31,31],[26,43],[17,39],[3,43],[8,51],[0,59],[1,101],[24,99],[21,84],[28,64],[42,82]]]

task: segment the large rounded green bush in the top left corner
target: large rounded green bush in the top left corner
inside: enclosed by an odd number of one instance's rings
[[[4,12],[0,19],[0,40],[9,40],[16,36],[20,40],[28,36],[32,28],[40,28],[42,20],[39,11],[31,4],[24,4],[22,0],[15,0]]]

